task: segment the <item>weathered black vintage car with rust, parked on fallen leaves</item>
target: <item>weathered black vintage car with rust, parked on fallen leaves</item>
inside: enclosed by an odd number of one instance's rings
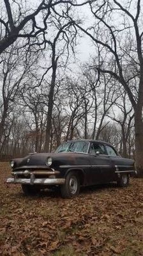
[[[80,186],[116,181],[128,186],[135,173],[134,161],[121,157],[105,141],[74,140],[54,153],[32,153],[10,161],[12,177],[7,183],[22,184],[25,194],[60,186],[63,198],[79,194]]]

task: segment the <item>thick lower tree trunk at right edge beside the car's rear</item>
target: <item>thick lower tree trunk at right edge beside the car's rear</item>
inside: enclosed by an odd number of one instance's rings
[[[142,108],[135,109],[135,168],[138,177],[143,177],[143,121]]]

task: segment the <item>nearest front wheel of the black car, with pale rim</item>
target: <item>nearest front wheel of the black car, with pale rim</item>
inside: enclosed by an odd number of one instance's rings
[[[66,181],[61,185],[61,196],[63,198],[73,198],[79,195],[80,180],[76,172],[70,172],[66,176]]]

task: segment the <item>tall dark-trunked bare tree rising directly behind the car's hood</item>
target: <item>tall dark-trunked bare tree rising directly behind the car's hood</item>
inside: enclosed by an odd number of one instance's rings
[[[68,9],[67,9],[68,12]],[[54,18],[53,18],[54,19]],[[48,44],[51,50],[51,81],[49,84],[49,102],[48,102],[48,112],[47,112],[47,125],[46,125],[46,133],[45,133],[45,145],[44,150],[49,152],[50,146],[50,131],[52,126],[52,109],[54,106],[54,89],[56,86],[56,74],[57,69],[61,65],[63,68],[66,67],[69,54],[70,54],[70,47],[73,51],[74,41],[76,40],[77,31],[72,26],[72,22],[67,22],[65,20],[61,20],[57,17],[54,19],[54,29],[57,29],[57,33],[54,36],[53,40],[48,40]],[[61,45],[62,42],[62,45]],[[62,58],[63,64],[60,63]]]

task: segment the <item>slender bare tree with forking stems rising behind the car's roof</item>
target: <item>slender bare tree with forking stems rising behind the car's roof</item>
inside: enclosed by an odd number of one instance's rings
[[[90,114],[94,120],[91,137],[93,140],[98,140],[100,133],[109,123],[109,120],[105,120],[105,118],[109,115],[110,109],[112,109],[120,94],[117,93],[117,86],[112,77],[97,72],[94,68],[94,61],[89,61],[88,64],[84,65],[82,76],[84,77],[86,92],[88,92],[87,99],[93,100]],[[86,95],[85,92],[84,95]]]

